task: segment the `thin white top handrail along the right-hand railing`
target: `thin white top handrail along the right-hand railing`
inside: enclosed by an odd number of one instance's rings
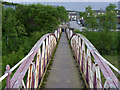
[[[80,37],[84,40],[85,44],[87,45],[87,47],[88,47],[90,50],[91,50],[91,47],[92,47],[92,48],[94,49],[94,50],[93,50],[94,53],[95,53],[98,57],[100,57],[101,60],[103,60],[104,62],[106,62],[111,68],[113,68],[117,73],[120,74],[120,70],[117,69],[115,66],[113,66],[110,62],[108,62],[105,58],[103,58],[103,57],[100,55],[100,53],[98,52],[98,50],[92,45],[92,43],[91,43],[88,39],[86,39],[86,37],[84,37],[83,35],[81,35],[81,34],[79,34],[79,33],[73,34],[72,37],[73,37],[74,35],[80,36]],[[71,37],[71,38],[72,38],[72,37]],[[89,44],[89,45],[88,45],[88,44]],[[90,47],[90,46],[91,46],[91,47]]]

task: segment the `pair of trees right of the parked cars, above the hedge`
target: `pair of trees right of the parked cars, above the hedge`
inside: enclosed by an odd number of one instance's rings
[[[102,31],[110,31],[117,29],[117,14],[115,10],[115,4],[110,4],[106,7],[105,14],[98,14],[95,16],[95,12],[90,6],[86,7],[84,13],[80,13],[85,20],[85,27],[90,30],[99,29]]]

